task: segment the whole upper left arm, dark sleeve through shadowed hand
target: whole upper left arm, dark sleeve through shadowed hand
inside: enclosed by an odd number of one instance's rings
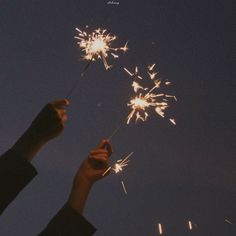
[[[67,100],[58,100],[46,105],[15,145],[0,157],[0,214],[37,174],[30,161],[62,132],[67,104]]]

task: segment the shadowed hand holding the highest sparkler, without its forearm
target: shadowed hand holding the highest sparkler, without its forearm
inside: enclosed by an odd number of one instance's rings
[[[67,105],[69,105],[69,101],[66,99],[48,103],[33,120],[27,130],[28,136],[42,143],[59,136],[67,120],[65,109]]]

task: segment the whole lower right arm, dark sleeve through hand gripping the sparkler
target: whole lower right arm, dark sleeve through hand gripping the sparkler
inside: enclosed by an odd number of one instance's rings
[[[67,203],[40,236],[90,236],[96,231],[82,214],[93,184],[103,178],[102,174],[108,168],[111,152],[111,145],[105,140],[90,152],[74,177]]]

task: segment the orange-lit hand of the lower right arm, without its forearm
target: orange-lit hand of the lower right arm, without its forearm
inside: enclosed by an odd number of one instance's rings
[[[112,154],[111,144],[107,140],[102,140],[100,144],[90,151],[88,157],[82,162],[76,176],[74,185],[77,182],[86,181],[93,184],[103,177],[103,173],[108,168],[108,158]]]

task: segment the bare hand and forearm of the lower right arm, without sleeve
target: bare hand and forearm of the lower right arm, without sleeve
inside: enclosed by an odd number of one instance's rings
[[[102,174],[108,167],[108,158],[111,154],[111,144],[107,140],[103,140],[90,151],[77,171],[68,204],[80,214],[83,212],[92,185],[103,178]]]

